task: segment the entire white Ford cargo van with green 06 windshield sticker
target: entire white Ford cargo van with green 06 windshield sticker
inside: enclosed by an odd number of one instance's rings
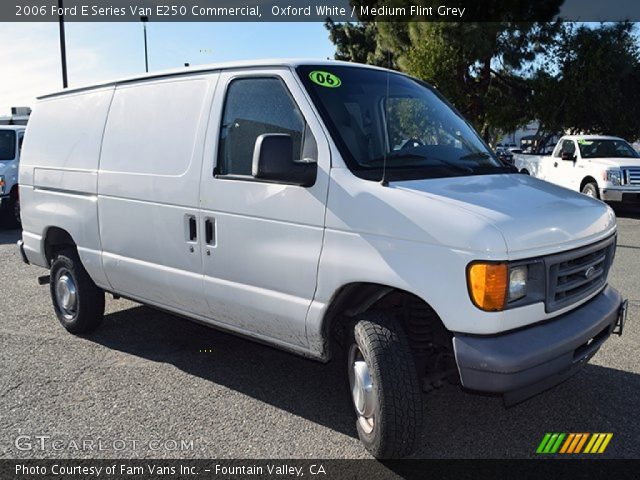
[[[42,97],[20,189],[19,248],[67,330],[97,327],[110,292],[344,362],[377,457],[414,450],[422,390],[519,402],[624,322],[612,210],[514,173],[379,68],[257,61]]]

